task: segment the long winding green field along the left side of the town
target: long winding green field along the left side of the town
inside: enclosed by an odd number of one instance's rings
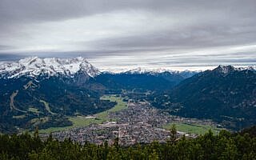
[[[117,104],[111,108],[110,110],[103,111],[98,114],[94,114],[94,117],[96,118],[87,118],[86,116],[75,116],[75,117],[69,117],[69,120],[73,123],[72,126],[65,126],[65,127],[50,127],[46,130],[39,130],[39,133],[51,133],[55,131],[60,130],[68,130],[75,127],[82,127],[82,126],[89,126],[90,124],[97,123],[100,124],[102,122],[106,122],[110,120],[108,118],[108,114],[110,112],[117,112],[119,110],[126,109],[127,102],[123,102],[123,98],[118,97],[116,95],[104,95],[101,97],[102,100],[110,100],[111,102],[117,102]]]

